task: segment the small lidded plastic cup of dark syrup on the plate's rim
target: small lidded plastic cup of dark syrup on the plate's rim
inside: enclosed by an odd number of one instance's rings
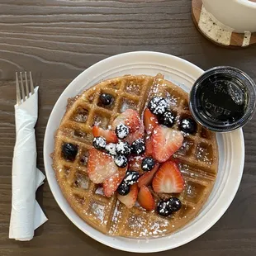
[[[255,83],[232,67],[207,70],[194,83],[189,107],[195,120],[209,130],[227,132],[249,121],[255,109]]]

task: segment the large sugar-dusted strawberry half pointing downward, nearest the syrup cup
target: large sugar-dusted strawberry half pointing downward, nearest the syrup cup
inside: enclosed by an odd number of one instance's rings
[[[152,135],[153,155],[160,163],[167,161],[182,145],[183,134],[165,126],[156,126]]]

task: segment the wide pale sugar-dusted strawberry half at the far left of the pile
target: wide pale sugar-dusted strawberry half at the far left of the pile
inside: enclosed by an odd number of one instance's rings
[[[88,157],[88,176],[92,183],[103,183],[118,171],[114,159],[97,149],[90,149]]]

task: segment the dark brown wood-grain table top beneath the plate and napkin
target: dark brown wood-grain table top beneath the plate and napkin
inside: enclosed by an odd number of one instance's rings
[[[177,55],[202,69],[231,65],[256,81],[256,47],[226,50],[197,31],[189,0],[0,1],[0,255],[128,255],[84,235],[59,209],[50,188],[37,192],[49,220],[36,237],[8,239],[11,210],[15,71],[31,70],[40,85],[36,125],[38,167],[44,170],[43,138],[61,92],[83,69],[111,55],[154,50]],[[173,256],[253,256],[256,252],[256,116],[244,127],[244,176],[225,215],[206,234]]]

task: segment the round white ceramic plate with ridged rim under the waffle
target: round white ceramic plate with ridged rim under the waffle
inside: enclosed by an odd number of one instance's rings
[[[194,81],[203,73],[203,70],[173,55],[145,51],[116,55],[104,59],[83,71],[64,90],[50,114],[44,143],[46,176],[59,207],[74,225],[77,225],[80,230],[93,239],[112,248],[128,252],[149,253],[173,249],[196,239],[210,229],[230,206],[239,187],[244,168],[243,132],[240,129],[228,134],[217,135],[220,162],[216,184],[200,214],[182,230],[173,235],[154,239],[154,243],[149,242],[149,239],[127,239],[103,235],[80,219],[65,200],[55,179],[55,172],[51,167],[50,153],[54,150],[55,130],[57,130],[64,115],[67,99],[74,97],[85,88],[90,88],[103,79],[114,78],[127,73],[143,73],[153,76],[157,73],[163,73],[165,78],[176,81],[183,89],[189,91]]]

